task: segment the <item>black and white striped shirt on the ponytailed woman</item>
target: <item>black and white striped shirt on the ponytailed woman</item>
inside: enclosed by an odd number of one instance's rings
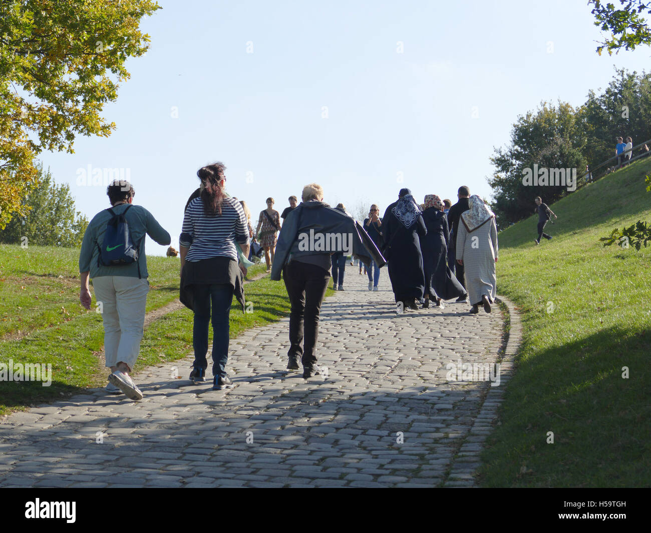
[[[186,209],[182,233],[178,243],[189,248],[186,261],[199,261],[212,257],[230,257],[238,260],[234,239],[249,243],[249,228],[242,205],[233,198],[221,202],[221,216],[208,217],[203,200],[195,198]]]

